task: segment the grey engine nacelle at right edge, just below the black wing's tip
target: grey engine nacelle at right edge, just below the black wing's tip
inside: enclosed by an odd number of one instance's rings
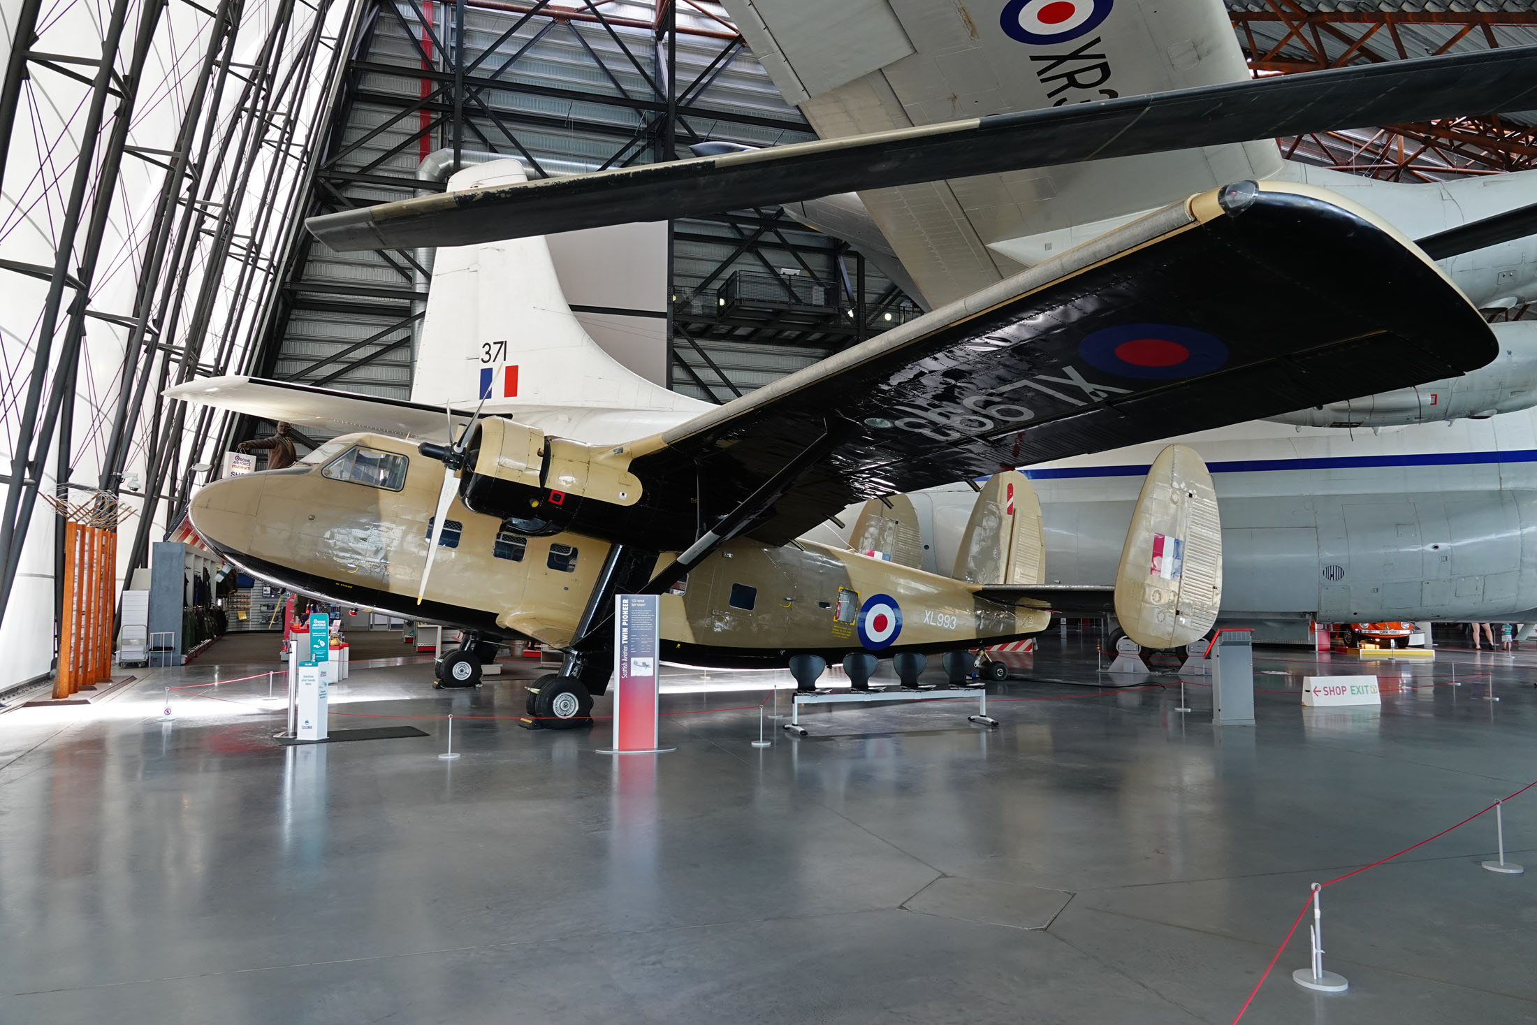
[[[1397,427],[1483,420],[1537,406],[1537,321],[1517,320],[1489,327],[1500,343],[1500,355],[1477,370],[1270,420],[1302,427]]]

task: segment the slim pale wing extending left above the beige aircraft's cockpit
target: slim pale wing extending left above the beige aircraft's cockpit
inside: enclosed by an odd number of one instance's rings
[[[334,392],[309,384],[227,375],[175,384],[168,387],[164,393],[168,398],[201,403],[214,409],[263,420],[286,420],[295,427],[334,433],[369,430],[429,441],[444,441],[449,436],[449,418],[443,407],[354,392]],[[461,429],[473,412],[473,407],[455,410],[453,429]]]

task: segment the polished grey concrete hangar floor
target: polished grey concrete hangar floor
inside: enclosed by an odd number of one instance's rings
[[[421,661],[332,692],[334,728],[413,739],[277,747],[266,676],[237,679],[267,664],[218,645],[6,712],[0,1022],[1227,1023],[1308,884],[1537,779],[1537,649],[1266,650],[1257,725],[1219,731],[1207,688],[1182,715],[1174,678],[1100,692],[1093,638],[1045,644],[994,685],[998,730],[967,702],[821,708],[753,748],[782,675],[679,670],[678,750],[618,759],[604,725],[518,728],[516,681],[437,692]],[[1305,672],[1417,688],[1303,710]],[[163,719],[163,687],[214,679]],[[1480,868],[1485,816],[1330,887],[1349,991],[1291,982],[1303,927],[1243,1020],[1537,1020],[1537,788],[1505,836],[1532,873]]]

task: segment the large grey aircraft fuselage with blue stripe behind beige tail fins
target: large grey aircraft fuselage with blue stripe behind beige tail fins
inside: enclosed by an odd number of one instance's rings
[[[1380,433],[1250,423],[1180,441],[1207,459],[1217,489],[1222,622],[1268,622],[1268,636],[1302,639],[1310,619],[1486,621],[1537,607],[1534,410]],[[1048,582],[1114,581],[1153,452],[1027,470]],[[924,564],[945,566],[970,490],[911,498]]]

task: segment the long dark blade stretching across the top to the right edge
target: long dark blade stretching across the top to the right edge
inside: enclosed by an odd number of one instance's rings
[[[1276,75],[324,214],[340,252],[464,246],[1365,124],[1537,108],[1537,46]]]

